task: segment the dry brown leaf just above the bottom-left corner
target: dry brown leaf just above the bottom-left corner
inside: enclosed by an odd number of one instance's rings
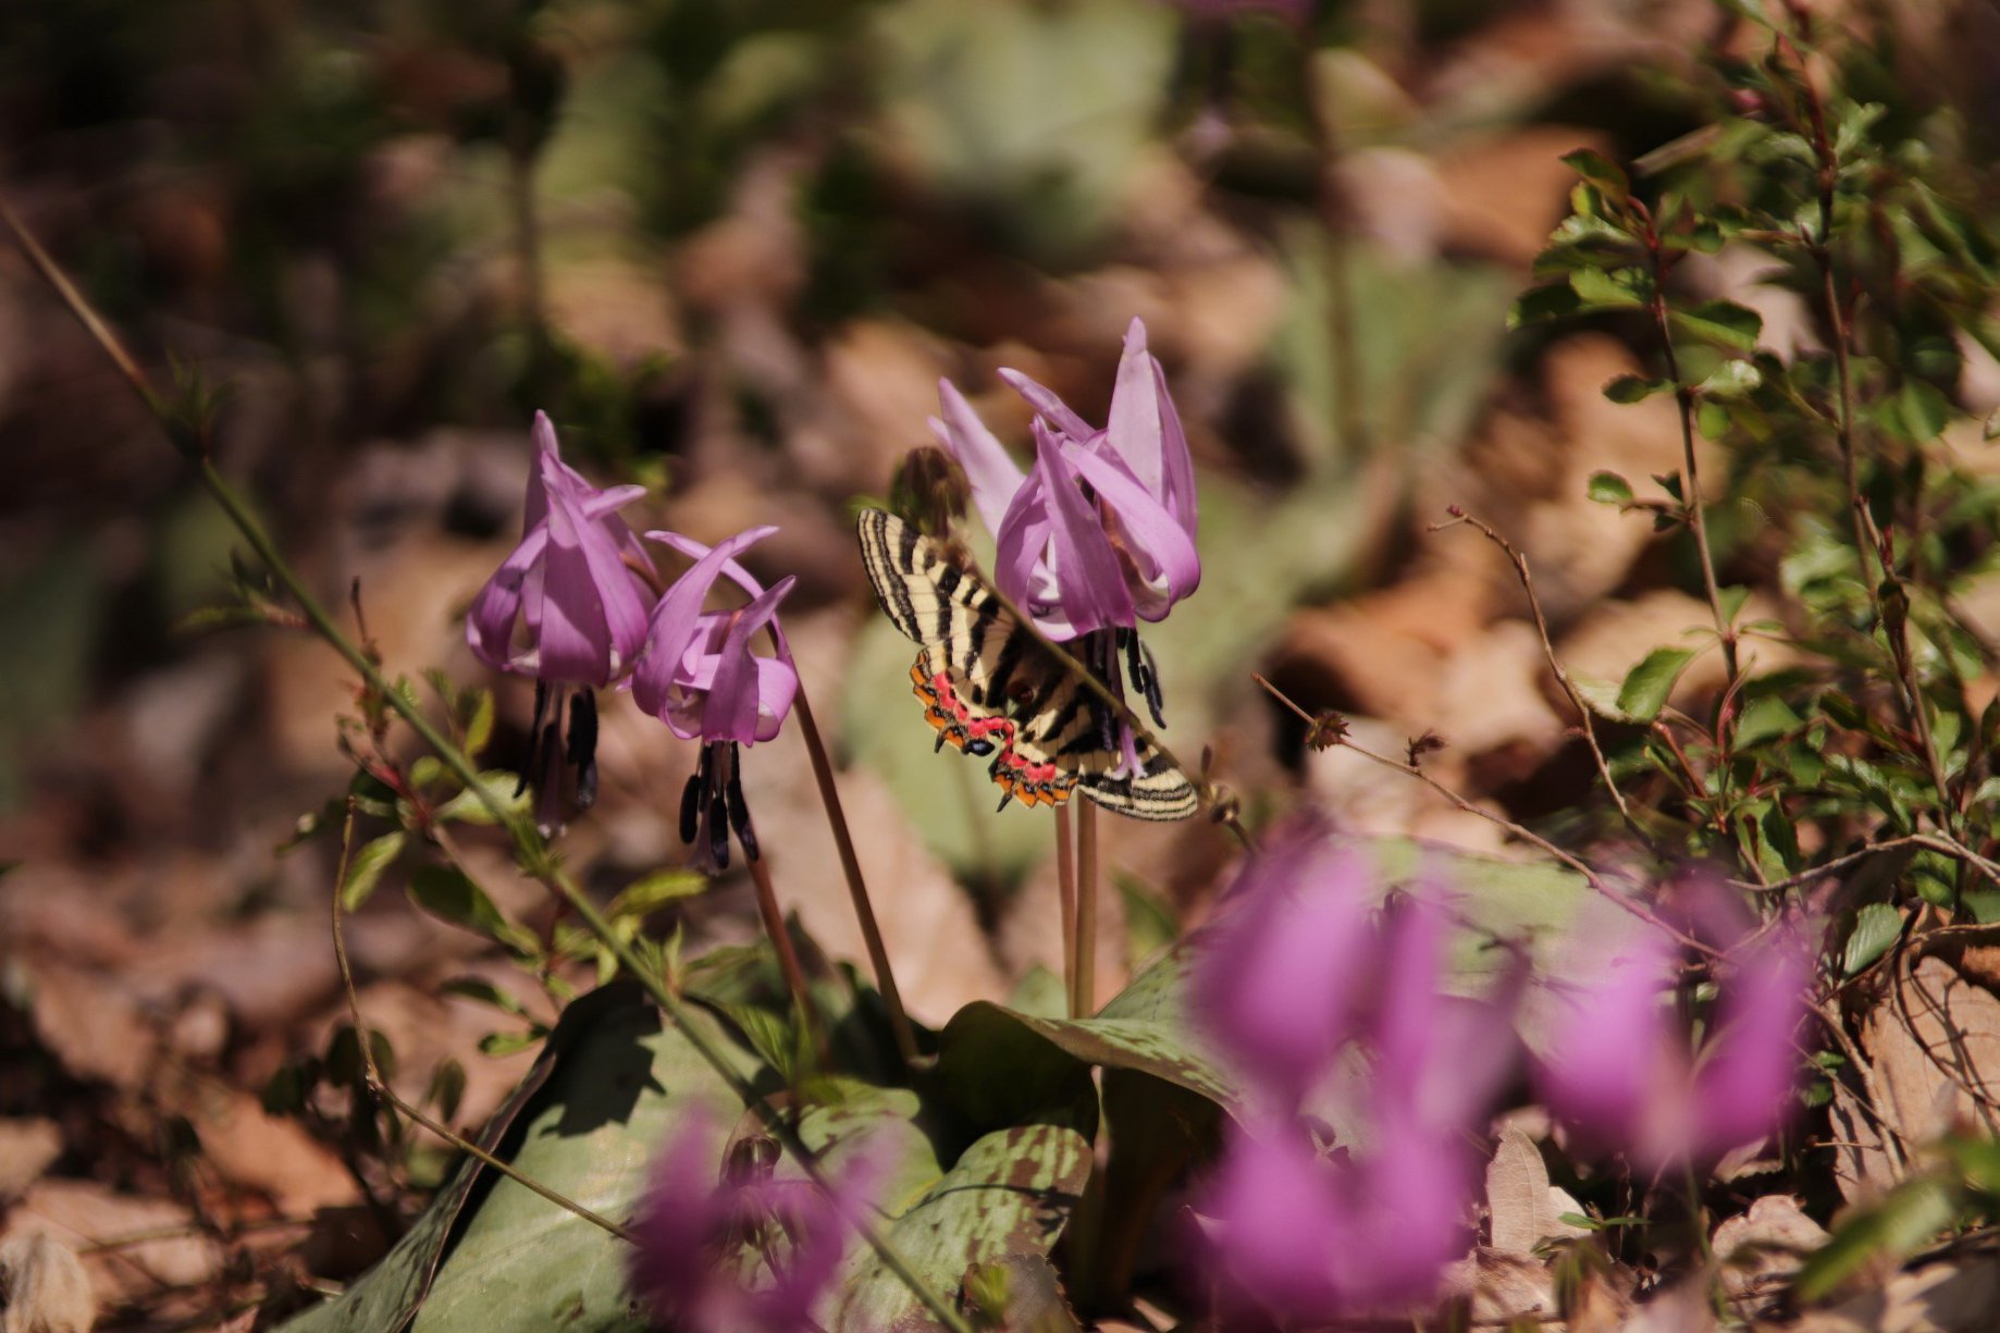
[[[132,1235],[186,1227],[188,1235],[148,1239],[82,1255],[98,1301],[112,1305],[160,1287],[192,1287],[222,1271],[222,1247],[200,1235],[194,1215],[166,1199],[116,1195],[92,1181],[42,1181],[6,1219],[6,1237],[48,1231],[72,1251]]]

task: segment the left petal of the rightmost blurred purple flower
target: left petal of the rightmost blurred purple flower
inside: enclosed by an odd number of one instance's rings
[[[1606,959],[1550,1033],[1542,1097],[1588,1139],[1636,1143],[1662,1083],[1674,1081],[1672,1033],[1660,1005],[1670,967],[1668,941],[1648,933]]]

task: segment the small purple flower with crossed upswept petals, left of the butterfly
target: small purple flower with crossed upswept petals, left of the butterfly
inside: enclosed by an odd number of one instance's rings
[[[782,578],[766,588],[736,562],[740,550],[776,530],[746,528],[714,548],[678,532],[646,534],[694,556],[694,566],[652,608],[646,646],[632,671],[632,697],[682,741],[702,743],[702,757],[680,801],[680,837],[710,869],[728,867],[730,829],[736,829],[744,855],[756,861],[738,745],[776,737],[798,697],[792,646],[778,624],[778,602],[796,580]],[[750,602],[736,610],[702,610],[724,574]],[[750,642],[766,628],[776,644],[774,656],[750,652]]]

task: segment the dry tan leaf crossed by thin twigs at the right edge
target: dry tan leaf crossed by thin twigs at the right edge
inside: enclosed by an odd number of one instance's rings
[[[1956,1123],[1994,1127],[2000,1097],[2000,999],[1942,959],[1898,977],[1862,1027],[1886,1105],[1904,1143],[1928,1143]]]

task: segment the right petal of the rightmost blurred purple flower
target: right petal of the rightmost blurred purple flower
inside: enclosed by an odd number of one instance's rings
[[[1694,1075],[1694,1155],[1720,1155],[1768,1135],[1792,1109],[1800,1071],[1792,1039],[1806,1015],[1810,977],[1806,951],[1780,943],[1746,951],[1722,987],[1716,1035]]]

